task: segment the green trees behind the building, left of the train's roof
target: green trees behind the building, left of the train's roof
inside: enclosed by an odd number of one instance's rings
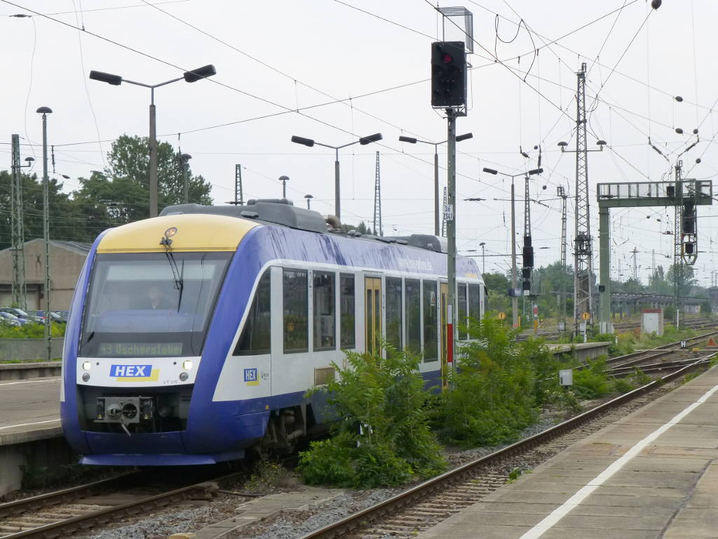
[[[50,175],[50,239],[91,242],[101,231],[149,217],[149,152],[146,137],[122,135],[106,156],[107,167],[78,188],[63,193],[63,183]],[[182,165],[172,144],[157,145],[158,206],[185,201]],[[39,163],[36,162],[36,168]],[[188,165],[189,166],[189,165]],[[188,170],[190,202],[211,204],[210,184]],[[25,240],[42,238],[42,172],[22,175]],[[0,248],[11,245],[11,173],[0,171]]]

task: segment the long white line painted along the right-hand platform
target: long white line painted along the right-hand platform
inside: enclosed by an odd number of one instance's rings
[[[684,408],[681,413],[675,415],[673,419],[668,421],[668,423],[664,423],[663,425],[661,425],[661,427],[658,427],[656,430],[653,430],[651,434],[636,443],[635,446],[626,451],[625,455],[623,455],[620,459],[608,466],[607,469],[602,471],[600,474],[595,476],[595,478],[589,481],[585,487],[582,487],[579,492],[567,499],[563,505],[556,507],[556,509],[551,512],[550,515],[544,518],[544,520],[541,520],[541,522],[538,522],[538,524],[531,528],[531,530],[528,530],[528,532],[521,535],[521,538],[519,539],[536,539],[541,537],[541,535],[544,535],[544,533],[546,533],[551,528],[553,528],[554,525],[556,525],[556,522],[559,522],[559,520],[568,515],[569,512],[574,509],[574,507],[577,507],[581,504],[581,502],[584,501],[584,499],[589,497],[589,494],[591,494],[593,491],[595,491],[595,489],[597,489],[604,482],[610,479],[617,471],[623,468],[623,466],[628,464],[628,461],[633,459],[633,457],[638,455],[638,453],[643,451],[645,446],[648,446],[649,443],[655,441],[658,436],[661,436],[661,434],[665,433],[666,430],[671,428],[673,425],[676,425],[676,423],[678,423],[681,419],[685,418],[686,415],[689,415],[689,413],[691,413],[701,404],[706,402],[706,400],[708,400],[708,398],[716,391],[718,391],[718,385],[715,385],[714,387],[712,387],[711,390],[705,392],[704,395],[699,398],[699,400],[696,400],[696,402]]]

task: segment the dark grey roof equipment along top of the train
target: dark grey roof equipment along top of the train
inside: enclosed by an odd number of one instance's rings
[[[439,253],[447,253],[447,243],[443,238],[431,234],[410,234],[409,236],[373,236],[359,234],[354,230],[341,229],[335,216],[322,216],[318,211],[306,210],[294,206],[286,198],[251,199],[246,204],[230,206],[203,206],[202,204],[177,204],[167,206],[160,216],[180,215],[182,213],[203,213],[251,219],[269,225],[286,226],[291,229],[316,232],[317,234],[341,235],[368,241],[381,241],[386,244],[399,244],[417,247]]]

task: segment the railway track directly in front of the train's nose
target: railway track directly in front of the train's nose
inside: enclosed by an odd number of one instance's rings
[[[140,511],[158,510],[191,499],[208,499],[219,484],[242,472],[213,477],[171,489],[146,487],[146,472],[103,479],[90,484],[19,499],[0,505],[0,538],[53,539],[75,537],[95,525]]]

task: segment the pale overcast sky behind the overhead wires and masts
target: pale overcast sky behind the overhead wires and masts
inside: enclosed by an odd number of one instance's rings
[[[480,170],[513,175],[535,168],[538,145],[544,175],[530,185],[537,201],[531,203],[536,265],[559,259],[556,187],[574,195],[576,164],[575,155],[561,154],[556,144],[567,141],[575,149],[575,73],[583,62],[589,147],[597,139],[610,145],[589,154],[596,254],[597,183],[671,178],[676,157],[696,140],[696,127],[700,142],[681,157],[684,177],[717,174],[717,2],[664,0],[657,11],[645,0],[464,5],[474,15],[475,54],[469,113],[457,121],[457,132],[474,138],[458,144],[457,244],[460,252],[480,254],[485,242],[487,271],[503,272],[510,264],[508,257],[488,256],[510,253],[510,180]],[[6,17],[29,10],[37,14]],[[158,88],[155,101],[159,138],[192,155],[192,170],[212,184],[215,203],[233,200],[235,165],[241,164],[245,198],[281,196],[278,178],[287,175],[288,198],[303,205],[311,193],[313,209],[333,213],[333,150],[290,138],[340,145],[381,132],[379,144],[340,150],[342,221],[372,220],[378,151],[384,233],[432,233],[433,147],[398,142],[401,134],[446,139],[446,121],[429,100],[430,43],[443,39],[429,1],[0,0],[0,15],[3,167],[17,133],[32,144],[22,147],[22,157],[37,157],[41,172],[42,124],[34,111],[50,106],[57,174],[70,175],[65,190],[74,190],[77,178],[105,166],[113,139],[148,133],[149,90],[88,80],[90,70],[159,83],[211,63],[215,77]],[[497,25],[504,42],[496,39]],[[445,147],[439,152],[445,185]],[[521,241],[523,178],[516,182]],[[487,201],[463,201],[470,197]],[[568,201],[572,239],[574,199]],[[718,249],[715,216],[712,207],[699,208],[696,270],[703,285],[712,282]],[[663,232],[672,229],[672,208],[612,211],[612,276],[632,275],[633,249],[644,282],[653,252],[656,264],[668,267],[673,236]],[[569,244],[569,264],[571,252]],[[594,264],[598,269],[597,256]]]

